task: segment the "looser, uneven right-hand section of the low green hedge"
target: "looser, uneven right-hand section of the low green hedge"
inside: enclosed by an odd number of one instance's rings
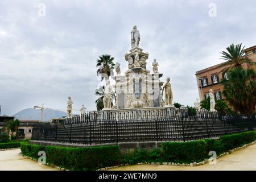
[[[217,155],[240,147],[256,140],[255,131],[224,135],[218,140],[203,139],[193,142],[163,142],[160,148],[151,151],[135,149],[123,154],[122,164],[137,164],[142,162],[174,162],[192,163],[208,159],[209,151],[216,151]]]

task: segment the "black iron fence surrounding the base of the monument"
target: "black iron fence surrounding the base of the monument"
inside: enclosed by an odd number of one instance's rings
[[[186,142],[254,130],[254,116],[218,115],[207,112],[201,116],[146,119],[94,119],[92,115],[77,115],[54,123],[35,126],[33,140],[74,144],[118,142],[179,141]]]

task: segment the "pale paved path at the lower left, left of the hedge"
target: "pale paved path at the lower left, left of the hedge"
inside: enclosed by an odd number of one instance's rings
[[[20,149],[0,151],[0,171],[57,171],[19,155]]]

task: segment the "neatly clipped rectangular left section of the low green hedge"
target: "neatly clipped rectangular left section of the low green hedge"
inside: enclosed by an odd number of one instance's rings
[[[46,151],[47,163],[73,170],[96,170],[115,166],[120,160],[119,146],[72,148],[22,142],[20,149],[22,154],[36,159],[39,157],[39,151]]]

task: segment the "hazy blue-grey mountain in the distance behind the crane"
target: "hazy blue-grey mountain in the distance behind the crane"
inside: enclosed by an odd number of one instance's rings
[[[15,118],[20,120],[40,120],[41,119],[41,110],[40,109],[24,109],[13,115]],[[44,121],[50,121],[53,118],[62,118],[67,116],[67,113],[64,111],[44,109]]]

